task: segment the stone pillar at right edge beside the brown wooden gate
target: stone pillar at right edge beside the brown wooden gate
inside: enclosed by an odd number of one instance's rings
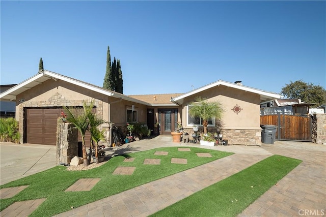
[[[326,145],[326,114],[313,115],[312,142]]]

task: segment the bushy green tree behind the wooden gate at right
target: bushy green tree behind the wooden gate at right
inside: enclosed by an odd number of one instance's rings
[[[323,87],[313,83],[306,83],[303,80],[290,82],[290,84],[282,87],[281,94],[284,97],[288,99],[301,99],[305,103],[315,103],[317,106],[325,105],[326,90]]]

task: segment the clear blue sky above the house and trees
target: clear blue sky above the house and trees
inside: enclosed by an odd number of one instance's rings
[[[1,1],[1,84],[44,69],[123,93],[183,93],[217,80],[279,93],[325,88],[325,1]]]

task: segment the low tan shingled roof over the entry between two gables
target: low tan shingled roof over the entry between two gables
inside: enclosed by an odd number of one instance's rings
[[[129,97],[150,103],[152,106],[173,106],[171,99],[181,94],[150,94],[150,95],[128,95]]]

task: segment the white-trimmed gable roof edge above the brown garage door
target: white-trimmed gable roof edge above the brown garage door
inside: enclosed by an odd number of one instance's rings
[[[81,86],[90,90],[93,90],[95,92],[99,92],[100,94],[109,96],[109,97],[114,97],[114,98],[118,98],[118,99],[123,99],[123,100],[128,100],[134,103],[140,103],[140,104],[144,104],[144,105],[150,105],[144,101],[140,101],[138,99],[135,98],[131,98],[128,97],[126,95],[120,94],[118,92],[112,91],[112,90],[108,90],[90,83],[86,83],[84,81],[80,81],[80,80],[76,80],[74,78],[70,78],[64,75],[60,75],[58,73],[55,72],[50,72],[47,70],[44,70],[41,73],[38,73],[36,75],[34,75],[33,77],[17,84],[16,86],[2,92],[0,94],[0,99],[2,101],[15,101],[17,95],[21,94],[22,92],[29,90],[49,79],[53,79],[53,80],[63,80],[66,81],[68,83],[77,85],[77,86]]]

